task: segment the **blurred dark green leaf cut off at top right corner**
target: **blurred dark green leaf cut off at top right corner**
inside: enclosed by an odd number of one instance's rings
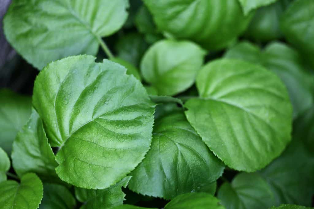
[[[301,51],[314,53],[314,1],[296,0],[284,12],[281,30],[286,39]]]

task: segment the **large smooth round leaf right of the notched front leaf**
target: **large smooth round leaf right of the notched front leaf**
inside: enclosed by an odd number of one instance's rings
[[[259,65],[220,59],[196,80],[201,98],[189,99],[187,120],[230,168],[252,172],[290,142],[292,107],[284,84]]]

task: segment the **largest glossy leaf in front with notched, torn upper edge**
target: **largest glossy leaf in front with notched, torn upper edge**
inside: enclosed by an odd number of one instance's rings
[[[149,150],[154,104],[126,69],[93,56],[50,63],[35,80],[33,105],[56,155],[58,176],[86,189],[124,178]]]

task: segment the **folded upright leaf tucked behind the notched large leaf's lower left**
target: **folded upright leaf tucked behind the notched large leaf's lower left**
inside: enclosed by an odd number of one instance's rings
[[[58,163],[48,143],[41,118],[34,109],[29,121],[13,142],[12,165],[19,177],[33,172],[44,182],[60,182],[55,171]]]

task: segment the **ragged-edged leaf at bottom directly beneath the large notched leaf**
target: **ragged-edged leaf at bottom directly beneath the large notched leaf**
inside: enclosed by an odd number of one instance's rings
[[[84,205],[80,209],[111,208],[122,205],[125,194],[121,187],[126,187],[131,176],[127,176],[117,184],[103,190],[87,190],[75,187],[75,196]]]

